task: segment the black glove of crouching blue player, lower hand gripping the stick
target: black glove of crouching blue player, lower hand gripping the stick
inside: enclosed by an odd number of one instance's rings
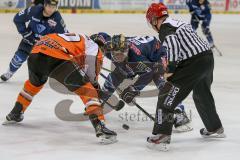
[[[133,99],[140,95],[140,91],[136,90],[133,86],[129,86],[120,94],[122,100],[126,103],[131,103]]]

